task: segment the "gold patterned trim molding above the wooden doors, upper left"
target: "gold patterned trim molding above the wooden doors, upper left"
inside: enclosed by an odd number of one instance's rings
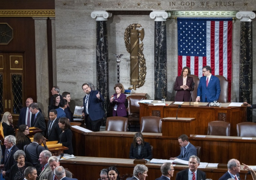
[[[55,17],[55,10],[0,10],[0,17]]]

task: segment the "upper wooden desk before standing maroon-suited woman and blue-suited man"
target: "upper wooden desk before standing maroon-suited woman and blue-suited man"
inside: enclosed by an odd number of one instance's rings
[[[153,101],[154,103],[154,101]],[[178,105],[154,106],[153,104],[140,104],[140,119],[143,116],[158,116],[161,118],[176,117]],[[192,134],[207,134],[208,123],[210,121],[226,121],[230,123],[230,136],[237,136],[237,124],[246,122],[246,107],[229,107],[230,103],[222,103],[222,107],[198,106],[184,103],[178,111],[178,117],[195,118],[196,121],[191,122]],[[175,127],[179,129],[179,126]],[[180,134],[179,134],[180,135]],[[178,136],[172,134],[172,136]]]

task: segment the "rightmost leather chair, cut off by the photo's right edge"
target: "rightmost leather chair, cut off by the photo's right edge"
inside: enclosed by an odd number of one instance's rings
[[[256,123],[243,122],[237,124],[238,137],[256,137]]]

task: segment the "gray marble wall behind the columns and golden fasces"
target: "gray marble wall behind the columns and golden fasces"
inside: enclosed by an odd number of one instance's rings
[[[90,17],[91,12],[101,7],[94,1],[84,5],[82,0],[55,0],[56,24],[56,58],[57,85],[63,91],[71,92],[71,106],[82,105],[84,92],[82,84],[93,83],[96,86],[96,20]],[[123,2],[123,1],[122,1]],[[126,1],[127,2],[127,1]],[[98,3],[98,1],[97,1]],[[125,3],[125,2],[124,2]],[[82,5],[81,5],[82,4]],[[136,3],[137,4],[137,3]],[[152,9],[152,8],[151,8]],[[151,10],[148,9],[148,10]],[[101,10],[101,9],[100,9]],[[138,10],[134,8],[133,10]],[[145,84],[137,88],[138,93],[147,93],[148,98],[154,98],[154,19],[149,15],[113,15],[107,21],[109,44],[109,95],[114,93],[117,83],[117,63],[112,54],[124,54],[120,62],[120,83],[127,89],[130,85],[130,54],[126,51],[124,32],[128,25],[139,23],[144,28],[144,56],[147,74]],[[253,20],[253,38],[256,36]],[[175,19],[167,19],[167,91],[168,100],[173,101],[175,91],[173,86],[177,76],[177,23]],[[231,101],[239,101],[239,49],[240,20],[233,22],[232,40],[232,84]],[[253,47],[255,42],[253,41]],[[253,49],[253,56],[255,56]],[[253,74],[256,62],[253,61]],[[253,93],[256,93],[256,80],[253,79]],[[134,91],[135,92],[135,91]],[[253,96],[253,103],[256,98]]]

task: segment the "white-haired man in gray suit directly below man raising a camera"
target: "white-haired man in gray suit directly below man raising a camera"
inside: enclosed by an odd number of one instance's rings
[[[40,164],[43,166],[42,167],[42,172],[40,173],[40,175],[38,176],[38,180],[43,180],[44,179],[44,175],[45,173],[47,173],[48,171],[51,171],[51,167],[48,164],[48,159],[52,157],[52,152],[48,151],[48,150],[43,150],[40,155],[39,155],[39,161]]]

